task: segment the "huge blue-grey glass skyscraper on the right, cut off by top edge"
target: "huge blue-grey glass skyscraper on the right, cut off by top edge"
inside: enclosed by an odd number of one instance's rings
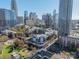
[[[68,36],[72,18],[73,0],[60,0],[59,6],[59,36]]]

